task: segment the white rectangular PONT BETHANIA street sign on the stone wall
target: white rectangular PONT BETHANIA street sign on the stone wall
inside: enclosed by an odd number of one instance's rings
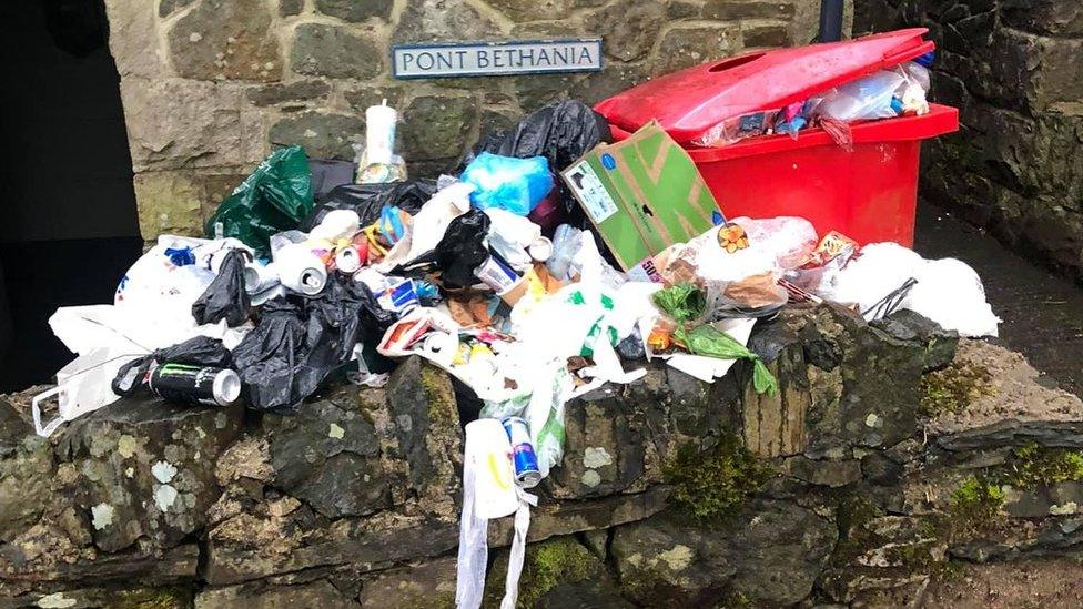
[[[601,39],[434,42],[392,47],[396,79],[597,72]]]

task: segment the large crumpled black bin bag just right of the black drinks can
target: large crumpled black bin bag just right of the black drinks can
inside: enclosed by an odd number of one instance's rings
[[[296,412],[357,343],[379,341],[395,321],[372,293],[348,277],[332,278],[315,296],[289,294],[267,301],[255,328],[233,349],[249,405]]]

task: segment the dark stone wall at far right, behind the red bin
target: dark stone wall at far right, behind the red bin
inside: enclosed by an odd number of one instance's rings
[[[871,0],[854,32],[923,26],[958,134],[925,149],[924,196],[1083,281],[1083,3]]]

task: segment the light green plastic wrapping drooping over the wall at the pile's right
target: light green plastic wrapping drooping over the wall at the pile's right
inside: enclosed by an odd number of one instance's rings
[[[689,322],[704,315],[707,301],[704,291],[690,283],[679,283],[655,292],[655,304],[677,322],[674,338],[690,353],[719,359],[749,359],[752,362],[752,386],[758,394],[778,393],[778,380],[767,369],[759,355],[738,343],[732,336],[712,325],[687,329]]]

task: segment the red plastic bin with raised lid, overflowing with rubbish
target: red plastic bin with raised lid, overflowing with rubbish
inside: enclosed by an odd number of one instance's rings
[[[721,148],[689,142],[727,118],[781,108],[923,54],[932,49],[921,39],[924,32],[900,30],[706,63],[632,88],[595,109],[618,140],[658,120],[688,150],[728,217],[797,215],[821,235],[839,231],[862,244],[893,241],[909,247],[921,141],[955,131],[954,108],[930,104],[921,116],[854,123],[852,152],[819,129],[802,130],[797,140],[765,135]]]

